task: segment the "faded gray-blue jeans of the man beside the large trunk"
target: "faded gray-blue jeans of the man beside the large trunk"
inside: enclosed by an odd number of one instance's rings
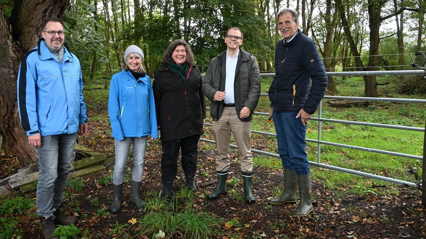
[[[63,188],[68,177],[77,132],[41,137],[38,149],[37,213],[50,217],[63,202]]]

